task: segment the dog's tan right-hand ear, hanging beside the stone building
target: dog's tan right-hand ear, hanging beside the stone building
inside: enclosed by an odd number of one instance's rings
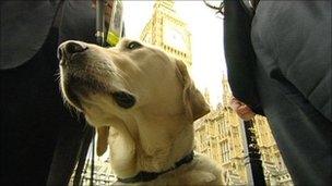
[[[183,104],[186,115],[195,121],[210,112],[210,107],[205,102],[202,94],[194,87],[189,76],[187,66],[182,61],[176,60],[177,75],[183,85]]]

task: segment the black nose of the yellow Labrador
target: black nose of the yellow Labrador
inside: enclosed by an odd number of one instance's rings
[[[64,58],[69,59],[74,53],[83,52],[87,49],[84,42],[80,41],[66,41],[58,47],[58,59],[63,62]],[[60,63],[61,63],[60,62]]]

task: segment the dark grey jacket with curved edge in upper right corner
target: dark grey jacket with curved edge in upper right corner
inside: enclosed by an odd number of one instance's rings
[[[252,45],[265,73],[332,122],[331,1],[261,1]],[[303,109],[304,110],[304,109]]]

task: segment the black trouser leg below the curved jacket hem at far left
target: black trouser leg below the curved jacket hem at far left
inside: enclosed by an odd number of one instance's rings
[[[45,185],[59,128],[74,122],[59,92],[57,42],[52,29],[33,59],[1,71],[1,185]]]

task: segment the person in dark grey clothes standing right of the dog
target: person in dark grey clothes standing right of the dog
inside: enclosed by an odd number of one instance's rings
[[[331,184],[331,1],[224,5],[234,96],[268,117],[296,185]]]

